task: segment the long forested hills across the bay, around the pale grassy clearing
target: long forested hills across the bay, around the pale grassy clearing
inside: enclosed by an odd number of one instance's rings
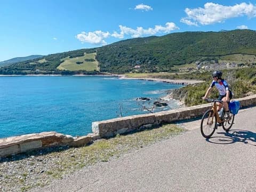
[[[0,73],[33,73],[37,70],[41,71],[39,73],[67,74],[67,70],[63,71],[57,67],[67,59],[84,57],[84,53],[95,53],[95,58],[90,60],[95,59],[98,62],[101,72],[124,73],[134,70],[134,66],[137,65],[140,66],[139,71],[174,71],[175,66],[204,60],[218,61],[223,55],[256,55],[256,31],[197,31],[172,33],[161,37],[133,38],[94,49],[47,55],[43,60],[41,58],[41,62],[34,59],[15,63],[0,68]],[[76,62],[76,65],[78,64]]]

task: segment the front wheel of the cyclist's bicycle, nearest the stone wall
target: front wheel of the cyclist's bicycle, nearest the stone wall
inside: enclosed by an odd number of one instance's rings
[[[217,127],[217,117],[214,115],[213,110],[207,110],[201,120],[201,133],[203,137],[210,138]]]

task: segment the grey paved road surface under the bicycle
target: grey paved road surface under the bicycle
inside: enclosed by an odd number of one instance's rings
[[[183,124],[191,131],[37,190],[256,191],[255,114],[256,107],[239,111],[228,134],[219,127],[209,140],[199,122]]]

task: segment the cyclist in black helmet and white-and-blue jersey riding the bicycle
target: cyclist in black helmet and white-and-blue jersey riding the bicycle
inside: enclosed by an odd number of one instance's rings
[[[224,107],[225,111],[229,112],[228,102],[230,99],[232,99],[233,94],[228,87],[228,83],[224,79],[222,79],[221,76],[222,76],[221,71],[214,71],[212,73],[213,81],[212,81],[209,89],[206,91],[204,97],[202,97],[202,99],[208,98],[208,95],[211,93],[211,90],[212,90],[213,86],[215,85],[219,91],[218,100],[223,101],[223,107]],[[221,107],[222,107],[222,103],[218,102],[217,104],[218,104],[217,110],[220,111]]]

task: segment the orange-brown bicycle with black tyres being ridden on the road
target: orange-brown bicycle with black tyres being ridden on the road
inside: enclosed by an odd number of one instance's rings
[[[227,113],[223,108],[223,113],[221,117],[219,117],[217,111],[217,103],[223,103],[223,101],[215,100],[215,99],[205,99],[205,101],[213,102],[212,108],[207,110],[201,120],[201,133],[203,137],[210,138],[214,131],[217,129],[217,123],[222,125],[223,130],[228,132],[231,126],[234,123],[235,115],[231,113]]]

